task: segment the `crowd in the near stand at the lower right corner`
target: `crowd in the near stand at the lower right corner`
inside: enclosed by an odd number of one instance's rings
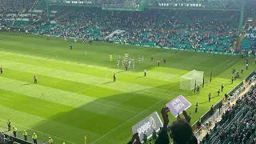
[[[220,122],[215,122],[201,144],[221,142],[225,143],[255,143],[256,139],[256,86],[222,114]],[[243,109],[242,109],[243,108]]]

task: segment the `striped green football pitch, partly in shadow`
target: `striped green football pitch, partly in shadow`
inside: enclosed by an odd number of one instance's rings
[[[69,46],[73,45],[73,50]],[[87,50],[87,55],[84,54]],[[134,56],[135,69],[117,68],[117,55]],[[109,61],[110,54],[113,61]],[[144,62],[138,64],[138,55]],[[150,56],[154,55],[151,62]],[[166,58],[164,64],[162,58]],[[161,60],[160,66],[157,61]],[[92,45],[64,38],[0,33],[0,119],[6,126],[10,118],[18,131],[27,130],[38,139],[54,143],[121,144],[130,140],[131,127],[147,115],[160,110],[182,94],[192,103],[188,113],[192,122],[218,102],[238,82],[254,70],[254,59],[226,55],[163,50],[150,47],[94,42]],[[230,84],[231,69],[241,70],[241,78]],[[147,70],[143,77],[143,70]],[[206,85],[200,94],[179,89],[179,80],[190,70],[205,72]],[[213,79],[210,82],[210,70]],[[117,74],[117,82],[113,74]],[[34,84],[33,76],[38,76]],[[217,91],[224,83],[224,92]],[[208,94],[212,93],[211,102]],[[198,102],[198,113],[194,105]],[[170,122],[174,117],[170,115]]]

